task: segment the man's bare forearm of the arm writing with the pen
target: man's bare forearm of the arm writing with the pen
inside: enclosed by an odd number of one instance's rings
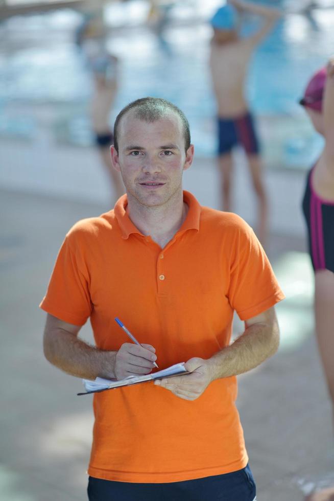
[[[47,360],[72,376],[85,379],[115,378],[116,351],[103,351],[88,345],[63,329],[44,334]]]

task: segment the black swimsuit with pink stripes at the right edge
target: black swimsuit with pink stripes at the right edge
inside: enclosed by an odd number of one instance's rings
[[[334,272],[334,201],[321,198],[313,188],[313,170],[309,171],[303,198],[308,230],[308,250],[314,270]]]

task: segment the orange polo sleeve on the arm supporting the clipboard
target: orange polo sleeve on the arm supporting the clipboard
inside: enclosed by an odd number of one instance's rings
[[[241,320],[247,320],[284,299],[284,294],[253,230],[242,223],[235,239],[228,298]]]

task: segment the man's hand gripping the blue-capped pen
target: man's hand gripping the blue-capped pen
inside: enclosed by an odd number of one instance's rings
[[[114,368],[116,379],[149,374],[156,359],[153,346],[144,343],[141,346],[124,343],[116,353]]]

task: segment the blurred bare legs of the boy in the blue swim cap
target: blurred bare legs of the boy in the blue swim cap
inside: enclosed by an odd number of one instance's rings
[[[252,178],[253,189],[258,203],[257,236],[263,246],[266,245],[268,204],[266,191],[262,179],[262,165],[259,155],[247,155],[247,162]],[[223,210],[231,210],[231,189],[233,158],[231,153],[219,156],[219,170],[221,173],[221,189]]]

